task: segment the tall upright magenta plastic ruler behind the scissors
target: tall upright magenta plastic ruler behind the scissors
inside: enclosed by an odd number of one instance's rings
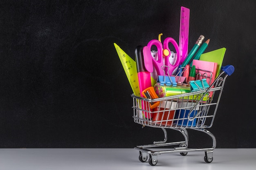
[[[180,8],[180,62],[184,62],[188,55],[189,49],[189,9],[185,7]]]

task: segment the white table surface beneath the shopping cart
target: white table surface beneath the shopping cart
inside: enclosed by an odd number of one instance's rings
[[[204,152],[162,154],[157,165],[138,159],[135,149],[0,149],[0,170],[255,170],[256,149],[215,149],[213,162]]]

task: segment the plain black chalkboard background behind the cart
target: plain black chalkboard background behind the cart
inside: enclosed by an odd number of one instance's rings
[[[2,0],[0,148],[132,148],[163,139],[135,124],[132,90],[113,43],[179,41],[180,7],[190,9],[189,50],[227,48],[232,64],[213,127],[217,148],[255,148],[256,1]],[[169,130],[169,139],[182,140]],[[189,130],[190,146],[211,146]]]

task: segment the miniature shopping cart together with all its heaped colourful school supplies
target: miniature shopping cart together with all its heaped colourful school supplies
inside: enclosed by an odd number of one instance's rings
[[[157,155],[162,153],[180,152],[186,155],[187,152],[205,151],[204,161],[210,163],[216,139],[205,128],[213,124],[225,79],[234,72],[234,66],[222,66],[225,48],[204,53],[210,39],[204,42],[203,35],[188,53],[189,9],[185,7],[181,7],[179,45],[171,37],[165,38],[162,43],[161,35],[146,46],[137,46],[135,61],[114,43],[133,91],[135,123],[164,131],[164,141],[135,147],[140,153],[139,160],[144,162],[149,155],[148,162],[154,166]],[[173,49],[169,48],[170,44]],[[213,108],[211,112],[210,107]],[[166,128],[180,131],[185,141],[166,143]],[[213,139],[213,146],[188,148],[186,128],[206,133]],[[173,145],[177,147],[165,151],[146,149]]]

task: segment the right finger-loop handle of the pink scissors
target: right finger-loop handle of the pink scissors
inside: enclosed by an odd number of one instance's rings
[[[169,43],[172,43],[175,50],[176,50],[176,53],[177,53],[177,59],[176,59],[176,62],[174,64],[171,64],[171,50],[169,49],[169,46],[168,44]],[[179,49],[179,46],[177,44],[177,42],[171,38],[171,37],[168,37],[164,40],[164,50],[167,49],[169,51],[169,54],[164,58],[164,65],[168,66],[167,68],[169,68],[168,72],[169,72],[169,75],[172,75],[173,71],[175,70],[175,68],[177,66],[179,66],[180,64],[180,60],[181,60],[181,57],[180,57],[180,49]],[[167,72],[167,69],[166,69],[166,72]]]

